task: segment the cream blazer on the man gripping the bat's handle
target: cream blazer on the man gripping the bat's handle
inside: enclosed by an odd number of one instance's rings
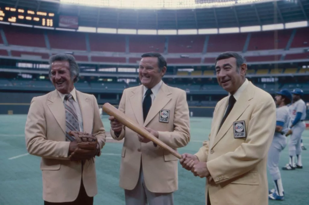
[[[267,205],[267,153],[276,127],[273,98],[249,82],[220,130],[228,97],[214,110],[209,141],[195,154],[207,162],[213,181],[206,184],[212,205]],[[235,138],[234,122],[244,121],[246,137]],[[207,199],[206,199],[207,204]]]

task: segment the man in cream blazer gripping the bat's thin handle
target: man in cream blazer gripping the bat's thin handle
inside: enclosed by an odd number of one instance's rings
[[[229,95],[214,110],[209,140],[180,164],[206,177],[207,205],[267,205],[267,153],[276,127],[271,95],[245,78],[247,65],[237,53],[216,58],[218,83]]]

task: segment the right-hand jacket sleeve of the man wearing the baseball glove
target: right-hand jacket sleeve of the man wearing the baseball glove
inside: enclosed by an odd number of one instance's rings
[[[106,141],[106,133],[103,126],[103,122],[100,117],[99,105],[94,95],[93,97],[93,108],[94,108],[94,119],[93,119],[93,135],[98,139],[100,149],[102,149],[105,145]]]

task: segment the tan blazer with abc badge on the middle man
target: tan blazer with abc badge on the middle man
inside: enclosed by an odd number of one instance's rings
[[[124,90],[119,110],[140,126],[149,127],[159,132],[159,139],[171,148],[186,146],[190,141],[190,119],[186,93],[162,83],[153,101],[145,122],[142,110],[143,86]],[[169,110],[168,122],[159,122],[162,109]],[[166,152],[154,143],[141,143],[138,134],[128,127],[123,127],[119,137],[111,130],[112,138],[124,144],[121,154],[120,186],[133,190],[142,169],[146,187],[155,193],[171,193],[178,189],[178,158]]]

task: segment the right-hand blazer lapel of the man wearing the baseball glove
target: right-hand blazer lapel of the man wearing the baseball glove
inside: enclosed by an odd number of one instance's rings
[[[83,130],[87,133],[92,133],[93,125],[93,113],[89,108],[92,108],[91,101],[87,95],[83,95],[81,92],[76,90],[76,97],[78,105],[83,117]]]

